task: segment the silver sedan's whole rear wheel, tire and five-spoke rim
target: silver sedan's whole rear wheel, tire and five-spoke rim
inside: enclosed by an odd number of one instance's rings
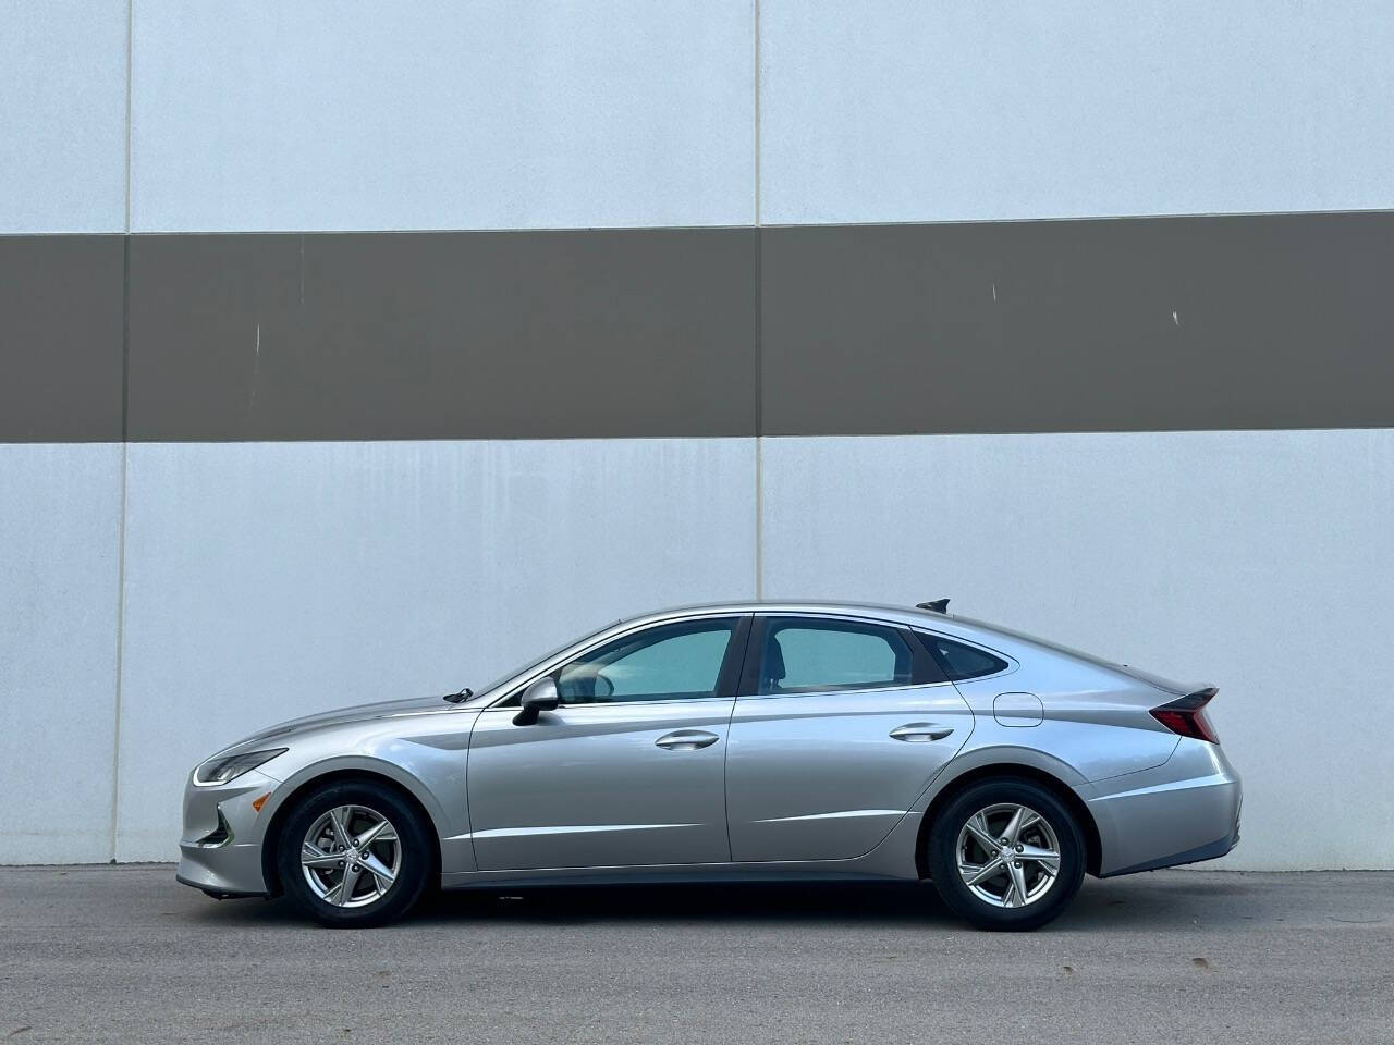
[[[1085,836],[1048,789],[983,780],[953,797],[928,836],[944,903],[984,929],[1034,929],[1057,918],[1085,876]]]

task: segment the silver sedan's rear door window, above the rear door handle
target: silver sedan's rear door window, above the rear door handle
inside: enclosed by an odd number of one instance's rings
[[[829,692],[909,686],[914,655],[899,631],[877,624],[771,620],[757,692]]]

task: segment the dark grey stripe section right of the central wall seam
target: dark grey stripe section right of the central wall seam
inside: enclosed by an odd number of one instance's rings
[[[764,230],[764,432],[1394,425],[1394,213]]]

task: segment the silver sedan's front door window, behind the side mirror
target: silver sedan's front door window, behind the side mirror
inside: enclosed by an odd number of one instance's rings
[[[562,704],[717,697],[736,623],[725,617],[664,624],[606,642],[558,673]]]

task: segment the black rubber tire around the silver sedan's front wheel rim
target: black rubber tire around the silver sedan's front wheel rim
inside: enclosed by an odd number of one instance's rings
[[[321,897],[311,888],[300,862],[301,843],[311,828],[330,810],[340,807],[358,807],[386,818],[400,846],[400,864],[390,885],[381,896],[357,907],[335,906]],[[322,925],[344,929],[386,925],[415,906],[435,872],[435,847],[431,844],[429,830],[415,805],[395,787],[374,780],[325,784],[297,803],[282,825],[276,846],[282,888],[300,910]],[[381,888],[376,876],[372,885]]]

